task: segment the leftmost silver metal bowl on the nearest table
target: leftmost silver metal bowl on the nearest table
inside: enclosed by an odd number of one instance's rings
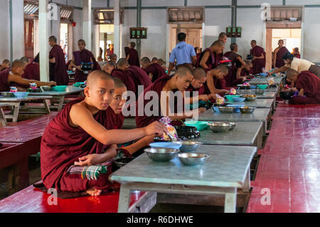
[[[171,159],[176,157],[176,154],[179,152],[178,149],[155,147],[155,148],[146,148],[144,152],[148,154],[148,157],[157,162],[169,162]]]

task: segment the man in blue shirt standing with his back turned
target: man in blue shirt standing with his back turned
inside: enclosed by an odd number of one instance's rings
[[[170,75],[172,68],[174,68],[174,62],[176,60],[176,68],[181,66],[187,66],[193,71],[193,65],[196,65],[196,51],[192,45],[186,43],[186,34],[178,33],[178,44],[171,51],[169,59],[168,75]]]

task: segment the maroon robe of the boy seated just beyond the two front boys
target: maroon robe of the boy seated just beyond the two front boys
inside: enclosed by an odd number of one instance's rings
[[[139,96],[137,103],[136,103],[136,124],[137,127],[146,127],[147,125],[150,125],[152,122],[155,122],[157,120],[160,120],[162,116],[161,114],[161,106],[160,106],[160,99],[161,99],[161,91],[164,88],[164,86],[166,85],[166,83],[168,82],[168,80],[170,80],[171,77],[169,75],[164,75],[161,78],[159,78],[158,80],[156,80],[151,86],[149,86],[148,88],[144,89],[144,92]],[[149,91],[155,91],[158,94],[159,100],[157,100],[157,108],[158,108],[158,113],[157,116],[151,115],[151,116],[147,116],[145,112],[143,112],[143,116],[139,116],[139,103],[143,103],[143,107],[145,107],[149,102],[151,102],[154,97],[150,97],[150,99],[145,99],[144,95],[146,95],[147,92]],[[172,91],[173,93],[176,92],[176,90]],[[176,100],[175,100],[176,101]],[[177,103],[175,102],[175,105]],[[184,104],[183,104],[184,105]],[[148,110],[151,109],[151,107],[148,108]],[[177,108],[176,106],[174,107],[174,112],[176,112]],[[152,110],[154,110],[154,106],[152,106]],[[151,111],[152,111],[151,110]],[[184,110],[184,108],[183,108]],[[181,121],[178,120],[173,120],[171,121],[171,125],[182,125],[183,123]]]

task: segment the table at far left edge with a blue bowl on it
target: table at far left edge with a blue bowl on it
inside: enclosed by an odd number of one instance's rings
[[[5,115],[6,119],[11,119],[12,122],[18,121],[18,115],[47,115],[50,114],[50,108],[48,105],[48,100],[52,98],[51,96],[27,96],[27,97],[0,97],[0,103],[5,103],[11,108],[11,115]],[[21,102],[24,105],[21,106]],[[31,106],[30,103],[43,103],[41,106]]]

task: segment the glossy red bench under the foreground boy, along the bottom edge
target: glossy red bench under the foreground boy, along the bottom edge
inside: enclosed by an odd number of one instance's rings
[[[33,186],[18,191],[0,201],[0,213],[116,213],[118,209],[119,191],[108,192],[101,196],[85,196],[76,199],[56,199]],[[156,194],[140,192],[131,194],[131,213],[146,213],[154,207]]]

